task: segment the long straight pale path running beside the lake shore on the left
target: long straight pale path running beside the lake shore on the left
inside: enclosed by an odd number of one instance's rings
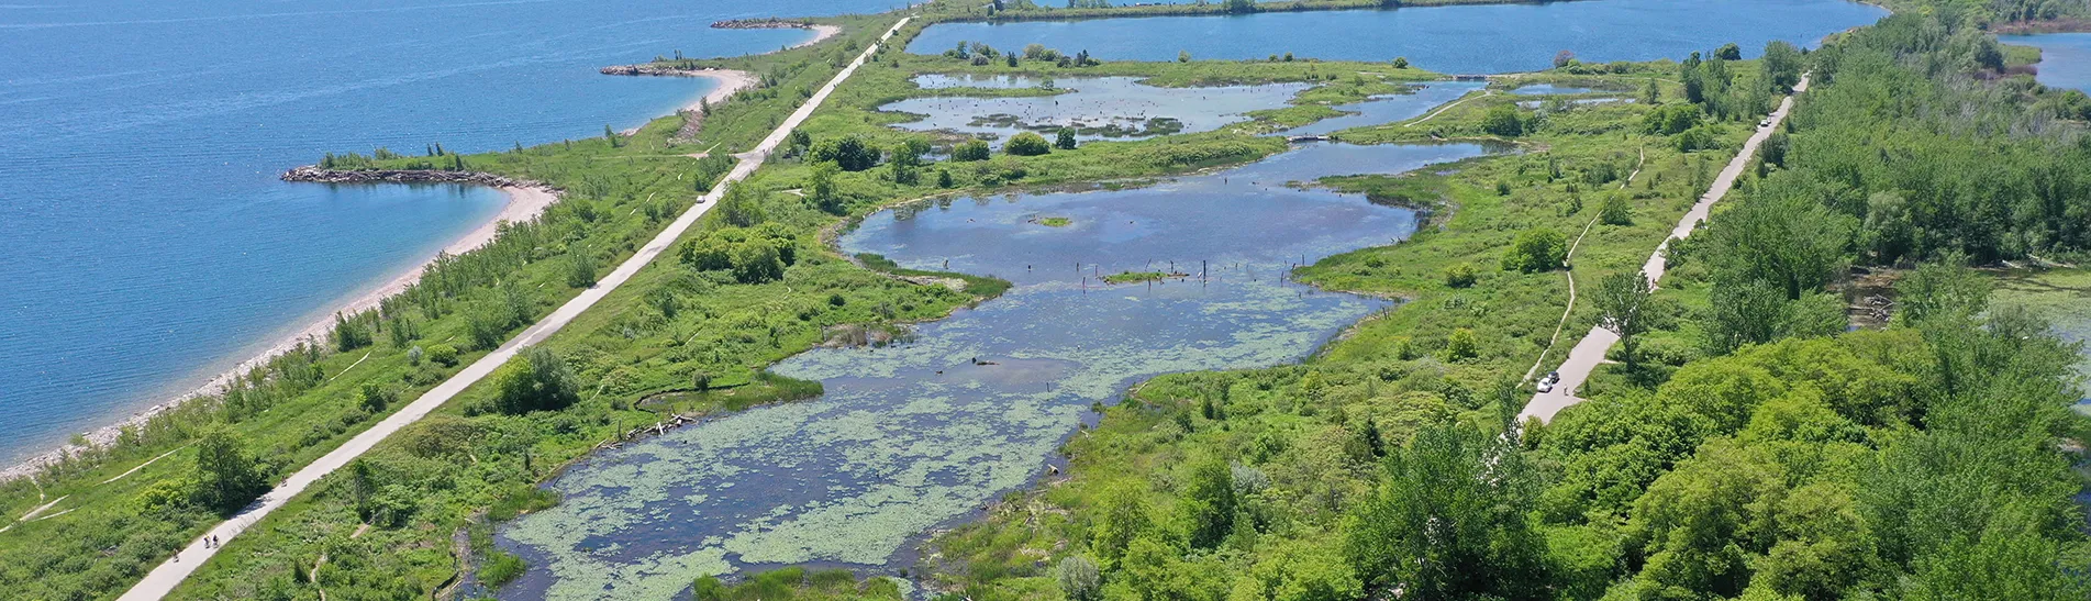
[[[878,42],[893,38],[893,34],[899,31],[901,25],[907,25],[910,19],[914,17],[893,23],[893,29],[887,29],[887,34],[878,38]],[[362,457],[393,431],[399,431],[401,427],[427,417],[437,406],[443,406],[443,402],[450,402],[450,398],[458,396],[458,392],[464,392],[473,383],[491,375],[493,369],[508,362],[508,358],[516,356],[516,352],[521,352],[523,348],[529,348],[533,343],[552,337],[552,333],[558,333],[558,329],[573,322],[573,318],[581,316],[581,312],[585,312],[590,306],[611,295],[611,291],[615,291],[619,285],[638,274],[640,268],[644,268],[657,255],[667,251],[667,247],[673,245],[675,239],[682,237],[682,232],[690,230],[690,226],[696,224],[696,218],[703,218],[705,212],[717,205],[719,195],[726,191],[730,182],[744,180],[749,174],[761,168],[763,159],[769,157],[769,151],[782,144],[784,136],[790,134],[792,128],[803,124],[805,117],[813,115],[813,109],[818,109],[820,103],[834,92],[834,86],[843,84],[843,80],[849,80],[849,75],[855,73],[857,67],[864,65],[864,61],[868,61],[872,52],[878,50],[878,46],[880,44],[864,48],[864,54],[859,54],[857,61],[849,63],[849,67],[843,67],[841,73],[834,73],[834,80],[828,80],[828,84],[822,86],[820,92],[813,92],[813,96],[807,98],[805,105],[799,107],[799,111],[792,111],[790,117],[786,117],[784,124],[776,128],[776,132],[769,132],[769,136],[763,138],[761,144],[757,144],[749,153],[740,153],[738,155],[740,163],[736,163],[734,170],[726,174],[726,178],[719,178],[719,184],[713,186],[711,193],[707,193],[696,205],[692,205],[688,212],[675,218],[673,224],[669,224],[665,230],[661,230],[661,235],[657,235],[650,243],[646,243],[646,247],[634,253],[631,260],[625,260],[623,264],[617,266],[617,270],[611,270],[611,274],[604,276],[600,283],[596,283],[596,287],[581,291],[544,320],[537,320],[508,343],[496,348],[491,354],[464,366],[464,371],[450,377],[450,381],[443,381],[437,387],[429,389],[412,404],[399,408],[399,413],[393,413],[385,421],[378,421],[378,425],[372,425],[364,433],[358,433],[341,448],[335,448],[335,452],[328,452],[318,461],[314,461],[312,465],[305,465],[305,469],[291,473],[291,477],[286,477],[274,490],[263,494],[259,500],[243,509],[232,519],[226,519],[224,524],[217,524],[217,528],[211,528],[211,532],[205,532],[205,536],[217,536],[220,542],[232,540],[240,532],[251,528],[255,521],[261,521],[261,517],[270,515],[270,511],[276,511],[299,492],[305,492],[305,488],[309,488],[320,477],[326,477],[335,469],[349,465],[349,461]],[[205,547],[205,536],[199,536],[188,544],[188,549],[178,551],[171,559],[159,563],[159,567],[153,567],[153,572],[146,574],[144,580],[140,580],[119,599],[142,601],[142,599],[167,597],[167,593],[171,593],[174,586],[182,584],[182,580],[186,580],[188,574],[197,572],[199,565],[203,565],[207,559],[211,559],[211,555],[217,553],[220,547]]]

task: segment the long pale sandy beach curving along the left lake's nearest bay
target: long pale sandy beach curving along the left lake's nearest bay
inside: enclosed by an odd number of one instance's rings
[[[470,249],[483,247],[483,245],[487,245],[487,243],[493,241],[493,235],[500,232],[500,224],[502,222],[527,222],[527,220],[535,220],[539,214],[544,214],[546,207],[550,207],[552,203],[558,201],[558,193],[554,193],[552,188],[542,188],[542,186],[500,186],[498,191],[502,191],[504,195],[508,195],[508,203],[504,203],[502,209],[498,214],[493,214],[493,218],[489,218],[487,222],[479,224],[477,228],[464,232],[462,237],[458,237],[456,241],[452,241],[450,245],[445,245],[441,249],[443,253],[460,255],[460,253],[466,253]],[[117,436],[123,431],[125,425],[142,425],[148,419],[153,419],[155,415],[159,415],[163,410],[169,410],[169,408],[174,408],[174,406],[178,406],[182,402],[188,402],[188,400],[192,400],[197,396],[217,394],[234,377],[238,377],[238,375],[243,375],[243,373],[247,373],[247,371],[251,371],[251,369],[268,362],[270,358],[274,358],[278,354],[289,352],[291,348],[297,348],[297,343],[301,343],[301,341],[307,341],[307,339],[312,339],[312,341],[324,341],[326,333],[335,327],[335,314],[337,312],[345,312],[347,314],[347,312],[362,312],[362,310],[376,308],[378,302],[383,302],[385,297],[395,295],[399,291],[406,291],[406,287],[410,287],[416,281],[420,281],[420,274],[433,262],[435,262],[435,258],[431,255],[431,258],[414,264],[414,268],[410,268],[410,270],[406,270],[406,272],[401,272],[397,276],[387,279],[378,287],[372,287],[372,289],[366,289],[362,293],[351,295],[345,304],[337,304],[332,310],[328,310],[328,312],[320,314],[318,318],[312,318],[309,322],[305,322],[305,327],[299,327],[293,333],[276,339],[276,343],[272,343],[266,350],[261,350],[259,354],[255,354],[255,356],[251,356],[251,358],[234,364],[232,369],[220,373],[217,377],[211,377],[211,381],[199,385],[197,389],[190,389],[188,394],[180,394],[180,396],[169,398],[169,400],[161,400],[161,402],[157,402],[157,404],[153,404],[148,408],[132,413],[123,421],[117,421],[113,425],[105,425],[100,429],[88,431],[84,438],[88,440],[90,446],[109,446],[111,442],[117,440]],[[0,469],[0,482],[15,480],[15,477],[25,477],[25,475],[33,475],[44,465],[56,463],[59,459],[63,459],[67,454],[73,454],[73,452],[82,452],[82,450],[88,450],[88,448],[77,446],[77,444],[65,444],[65,446],[40,452],[36,457],[23,459],[17,465]]]

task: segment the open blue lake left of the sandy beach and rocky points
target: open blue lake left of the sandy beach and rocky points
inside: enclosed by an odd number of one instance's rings
[[[0,6],[0,461],[201,385],[493,216],[462,186],[284,184],[326,151],[489,151],[671,113],[776,50],[715,19],[891,2],[84,0]]]

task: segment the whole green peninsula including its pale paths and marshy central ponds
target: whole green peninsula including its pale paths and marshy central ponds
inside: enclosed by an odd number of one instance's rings
[[[2035,84],[2024,75],[2032,57],[1984,29],[2026,15],[2091,17],[2081,4],[1892,2],[1897,15],[1807,52],[1786,42],[1710,42],[1637,63],[1562,52],[1552,69],[1470,82],[1443,103],[1395,107],[1311,144],[1271,132],[1451,82],[1397,57],[1186,52],[1133,63],[1046,46],[901,50],[924,27],[968,19],[1361,6],[1376,4],[928,2],[815,19],[838,34],[809,46],[638,67],[751,73],[751,84],[629,134],[498,153],[335,155],[312,178],[502,178],[560,197],[374,308],[343,314],[324,341],[130,427],[113,446],[0,484],[10,519],[0,526],[0,584],[33,599],[107,599],[142,578],[140,591],[165,586],[174,599],[2091,595],[2072,567],[2091,551],[2072,500],[2083,488],[2072,465],[2085,417],[2070,410],[2083,356],[2058,337],[2072,327],[2049,327],[2053,304],[2026,302],[2043,289],[2028,281],[2066,291],[2081,281],[2091,147],[2068,94]],[[979,84],[928,88],[922,75]],[[1054,105],[1039,103],[1010,136],[905,130],[897,126],[920,115],[884,109],[933,96],[1050,103],[1117,75],[1184,96],[1296,90],[1265,111],[1127,136],[1037,124],[1194,115],[1196,103],[1104,103],[1096,115],[1048,115]],[[1418,159],[1388,168],[1386,157],[1409,157],[1397,151]],[[1324,174],[1280,178],[1294,174],[1288,157],[1313,157]],[[1085,205],[1081,191],[1125,203]],[[1169,212],[1112,214],[1140,195]],[[997,262],[987,247],[851,247],[901,228],[1002,228],[991,232],[1037,237],[1039,249],[1054,249],[1054,237],[1102,249],[1221,230],[1198,218],[1242,218],[1198,214],[1200,195],[1255,199],[1227,203],[1242,212],[1299,207],[1253,216],[1267,228],[1409,222],[1399,237],[1269,270],[1242,268],[1257,264],[1248,253],[1096,251],[1069,266]],[[995,212],[1004,203],[1016,207]],[[663,230],[680,237],[654,241]],[[636,255],[652,260],[619,268]],[[1156,270],[1167,262],[1177,268]],[[974,266],[997,272],[966,272]],[[2009,266],[2020,270],[1993,302]],[[1156,293],[1089,293],[1092,274],[1171,281]],[[1173,283],[1192,276],[1246,293],[1207,302]],[[575,297],[594,306],[556,312]],[[1296,312],[1380,297],[1401,302]],[[1192,314],[1246,310],[1307,318],[1198,327],[1225,333],[1213,339],[1288,339],[1305,358],[1221,371],[1161,360],[1290,352],[1213,341],[1127,346],[1087,362],[976,356],[949,346],[964,331],[937,331],[960,308],[993,318],[1048,299],[1066,312],[1043,318],[1115,310],[1146,320],[1050,322],[1031,331],[1037,348],[1056,335],[1098,339],[1096,329],[1165,337]],[[1146,312],[1165,302],[1184,312]],[[1322,318],[1334,314],[1351,318]],[[537,322],[562,327],[544,335]],[[512,358],[468,369],[489,354]],[[769,369],[780,362],[799,377]],[[1098,364],[1163,375],[1062,377]],[[828,396],[889,377],[859,366],[939,394],[795,421],[792,410],[813,415],[845,402]],[[460,373],[477,383],[441,389]],[[866,467],[851,482],[740,471],[717,475],[732,486],[675,494],[646,482],[717,467],[677,463],[688,454],[671,446],[769,450],[721,461],[736,469],[832,461],[799,450],[824,448],[811,446],[822,436],[878,440],[880,421],[901,415],[970,417],[956,410],[966,394],[1010,381],[1037,398],[999,406],[995,419],[1008,421],[979,421],[1008,429],[918,440],[993,469],[882,471],[930,463],[880,448],[847,459]],[[1115,402],[1052,404],[1092,387]],[[1529,413],[1535,392],[1560,400],[1558,413]],[[226,553],[194,540],[429,394],[456,396],[278,498],[224,540]],[[686,431],[690,440],[677,438]],[[1027,444],[1008,444],[1018,438]],[[983,448],[995,457],[966,454]],[[646,494],[598,494],[604,482]],[[652,492],[711,503],[734,488],[795,507],[763,505],[767,517],[742,519],[617,503]],[[841,492],[859,488],[874,492]],[[935,503],[903,507],[949,511],[933,528],[889,519],[899,511],[887,503],[926,496]],[[688,536],[698,530],[707,536]],[[615,544],[546,544],[569,540],[562,532]],[[205,547],[209,561],[174,561]]]

